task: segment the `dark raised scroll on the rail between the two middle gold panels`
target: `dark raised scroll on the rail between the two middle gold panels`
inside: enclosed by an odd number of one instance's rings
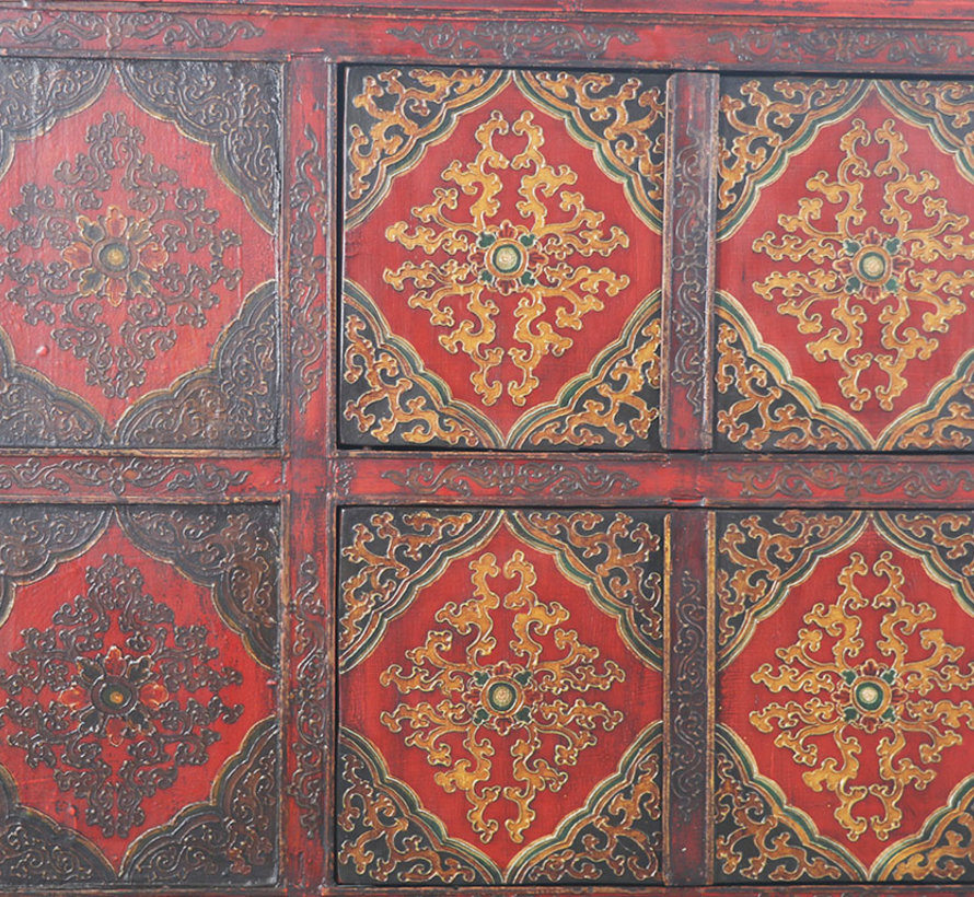
[[[420,496],[454,492],[464,498],[478,491],[497,492],[505,497],[549,496],[625,496],[638,482],[619,470],[604,470],[595,464],[576,465],[561,462],[499,462],[474,458],[448,464],[440,470],[433,462],[422,462],[404,470],[386,470],[389,479]]]

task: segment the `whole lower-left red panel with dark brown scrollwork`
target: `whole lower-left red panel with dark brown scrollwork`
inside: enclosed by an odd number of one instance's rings
[[[277,881],[277,517],[0,510],[0,885]]]

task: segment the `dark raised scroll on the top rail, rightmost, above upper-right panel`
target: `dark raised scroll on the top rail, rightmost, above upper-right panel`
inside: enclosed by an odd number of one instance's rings
[[[720,32],[709,44],[727,44],[739,62],[881,62],[943,66],[974,56],[974,46],[954,34],[917,28],[815,27],[779,25],[743,33]]]

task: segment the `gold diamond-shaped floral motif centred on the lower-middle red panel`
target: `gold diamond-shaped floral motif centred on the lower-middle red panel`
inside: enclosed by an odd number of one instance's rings
[[[482,841],[489,842],[499,830],[487,812],[496,814],[502,797],[514,807],[505,828],[520,842],[534,819],[536,795],[558,791],[568,780],[565,768],[598,743],[596,733],[612,731],[623,720],[622,712],[582,696],[607,690],[625,674],[613,661],[600,668],[598,649],[564,628],[569,619],[565,607],[537,597],[537,576],[523,552],[514,551],[503,563],[503,576],[515,580],[503,595],[489,583],[501,575],[496,556],[485,552],[469,569],[473,596],[437,613],[447,628],[430,631],[422,645],[406,652],[408,667],[393,664],[380,676],[382,685],[395,686],[401,695],[438,698],[402,702],[380,719],[392,732],[408,730],[405,743],[426,752],[431,766],[443,767],[434,776],[437,784],[448,793],[463,792],[467,819]],[[515,660],[494,656],[498,610],[513,611],[508,645]],[[542,643],[544,637],[549,640]],[[510,744],[505,753],[517,784],[492,783],[497,737]],[[457,741],[463,756],[455,754]]]

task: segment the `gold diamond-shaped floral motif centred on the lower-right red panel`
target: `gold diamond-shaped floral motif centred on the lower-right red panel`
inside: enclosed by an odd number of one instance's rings
[[[870,574],[886,583],[871,596],[856,582]],[[871,566],[854,551],[838,575],[838,598],[819,603],[804,615],[797,641],[775,651],[782,662],[777,669],[763,664],[751,677],[775,694],[808,696],[804,702],[769,703],[753,712],[751,722],[761,732],[777,732],[775,744],[809,767],[802,773],[809,788],[827,789],[838,799],[835,818],[853,841],[867,830],[888,839],[900,827],[907,789],[925,789],[937,776],[943,752],[961,744],[958,730],[974,730],[974,704],[947,696],[974,687],[974,663],[965,669],[958,665],[964,649],[949,644],[942,630],[930,627],[936,611],[908,601],[904,581],[890,551]],[[884,611],[876,642],[881,656],[862,656],[862,611],[879,609]],[[931,691],[940,697],[929,697]],[[858,781],[863,732],[882,735],[880,781]],[[908,737],[918,759],[905,754]],[[820,757],[820,749],[833,747],[837,758]],[[882,805],[882,814],[857,814],[857,804],[867,797]]]

